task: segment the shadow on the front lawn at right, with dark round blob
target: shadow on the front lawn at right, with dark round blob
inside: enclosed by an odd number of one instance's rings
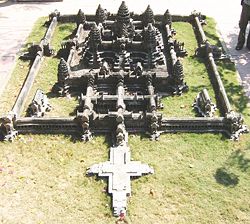
[[[247,172],[250,168],[250,159],[246,158],[246,152],[237,150],[226,160],[223,167],[216,170],[214,175],[217,183],[226,187],[234,187],[239,183],[239,176],[230,171],[232,168],[241,172]]]

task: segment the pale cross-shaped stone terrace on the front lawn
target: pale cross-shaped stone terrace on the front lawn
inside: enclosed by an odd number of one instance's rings
[[[127,145],[110,148],[110,161],[91,166],[87,174],[108,177],[108,193],[112,194],[112,207],[115,216],[126,211],[127,196],[131,195],[130,177],[152,174],[154,170],[147,164],[131,161]]]

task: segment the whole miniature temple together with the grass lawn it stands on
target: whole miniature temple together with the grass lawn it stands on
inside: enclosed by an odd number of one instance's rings
[[[247,223],[249,108],[205,19],[38,20],[1,99],[3,222]]]

